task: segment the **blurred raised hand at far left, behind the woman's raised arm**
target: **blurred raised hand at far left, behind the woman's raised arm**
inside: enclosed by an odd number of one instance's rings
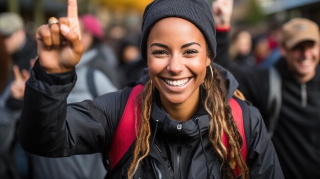
[[[11,97],[18,100],[23,100],[25,95],[26,81],[29,79],[30,74],[25,69],[20,72],[17,65],[13,65],[13,74],[14,81],[10,87]]]

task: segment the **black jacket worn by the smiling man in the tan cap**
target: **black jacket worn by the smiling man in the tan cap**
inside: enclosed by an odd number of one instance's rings
[[[252,101],[266,124],[268,69],[240,68],[227,57],[227,33],[217,33],[216,62],[230,69],[245,97]],[[306,84],[293,78],[285,59],[276,64],[282,80],[282,107],[272,141],[286,178],[320,178],[320,67]]]

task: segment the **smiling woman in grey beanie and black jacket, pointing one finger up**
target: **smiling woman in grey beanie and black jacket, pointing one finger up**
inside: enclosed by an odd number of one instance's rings
[[[39,62],[27,83],[20,125],[26,150],[45,157],[106,155],[123,149],[113,146],[126,144],[127,136],[116,135],[117,127],[125,126],[122,133],[133,129],[136,140],[116,165],[111,163],[106,178],[283,178],[259,111],[234,95],[237,82],[212,62],[216,30],[205,0],[155,0],[146,7],[141,54],[149,75],[135,84],[143,89],[133,96],[132,109],[123,107],[130,106],[131,87],[65,103],[83,48],[73,13],[59,19],[58,32],[52,28],[57,24],[37,31]],[[57,33],[70,43],[48,48]],[[243,123],[239,129],[230,101],[241,109],[235,113]]]

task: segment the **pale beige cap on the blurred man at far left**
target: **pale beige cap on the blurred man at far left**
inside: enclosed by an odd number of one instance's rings
[[[0,13],[0,34],[10,36],[24,27],[24,20],[14,12]]]

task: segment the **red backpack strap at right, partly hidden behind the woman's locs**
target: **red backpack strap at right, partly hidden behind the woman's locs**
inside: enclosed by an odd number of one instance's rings
[[[229,105],[230,105],[230,107],[232,109],[233,118],[234,118],[236,124],[238,125],[238,130],[239,130],[240,135],[242,137],[243,145],[242,145],[242,148],[241,148],[241,155],[242,155],[243,160],[246,161],[246,158],[247,158],[247,144],[246,144],[245,134],[244,134],[242,110],[241,110],[240,105],[238,104],[238,102],[234,98],[230,99]],[[222,135],[222,142],[223,142],[223,145],[226,147],[227,156],[228,156],[229,155],[229,140],[228,140],[228,138],[227,138],[227,136],[225,135],[224,132],[223,132],[223,135]],[[234,175],[238,176],[239,174],[240,174],[239,166],[236,166],[236,168],[234,169]]]

